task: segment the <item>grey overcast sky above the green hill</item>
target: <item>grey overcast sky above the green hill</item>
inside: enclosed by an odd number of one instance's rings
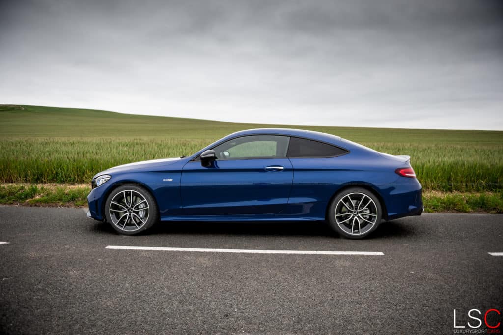
[[[503,1],[0,0],[0,103],[503,130]]]

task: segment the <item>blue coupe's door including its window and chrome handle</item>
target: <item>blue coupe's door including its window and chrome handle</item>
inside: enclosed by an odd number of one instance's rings
[[[185,215],[254,215],[283,211],[293,169],[286,158],[289,137],[243,136],[212,148],[211,166],[197,158],[182,170]]]

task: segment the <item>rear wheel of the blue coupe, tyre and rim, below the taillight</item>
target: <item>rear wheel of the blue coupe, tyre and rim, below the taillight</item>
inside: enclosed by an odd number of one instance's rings
[[[382,219],[379,199],[368,189],[351,187],[333,198],[327,222],[340,235],[360,239],[372,234]]]

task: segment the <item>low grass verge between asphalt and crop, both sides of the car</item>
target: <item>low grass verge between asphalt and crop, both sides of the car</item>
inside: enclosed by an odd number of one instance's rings
[[[89,185],[2,184],[0,204],[47,207],[85,207]],[[423,191],[428,213],[503,214],[503,192]]]

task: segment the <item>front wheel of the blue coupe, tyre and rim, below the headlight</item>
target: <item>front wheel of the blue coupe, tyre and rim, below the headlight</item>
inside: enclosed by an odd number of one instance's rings
[[[105,218],[118,233],[135,235],[159,220],[159,210],[155,199],[144,187],[126,184],[108,195]]]

